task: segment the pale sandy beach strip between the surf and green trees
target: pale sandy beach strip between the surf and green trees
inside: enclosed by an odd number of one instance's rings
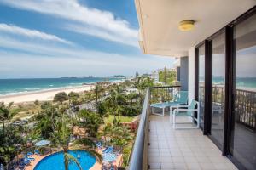
[[[16,95],[7,95],[7,96],[0,96],[0,102],[9,103],[21,103],[21,102],[29,102],[29,101],[45,101],[45,100],[52,100],[55,94],[59,92],[83,92],[88,91],[94,88],[94,85],[83,85],[79,87],[71,87],[71,88],[55,88],[49,89],[44,91],[37,91],[37,92],[30,92],[26,94],[16,94]]]

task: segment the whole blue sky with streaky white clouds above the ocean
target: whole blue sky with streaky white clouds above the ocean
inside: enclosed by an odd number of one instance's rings
[[[0,0],[0,78],[135,75],[172,68],[142,54],[132,0]]]

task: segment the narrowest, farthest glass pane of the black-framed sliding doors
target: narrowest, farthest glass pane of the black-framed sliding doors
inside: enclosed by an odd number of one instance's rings
[[[204,112],[205,112],[205,45],[198,48],[199,57],[199,84],[198,84],[198,100],[200,105],[200,127],[204,127]]]

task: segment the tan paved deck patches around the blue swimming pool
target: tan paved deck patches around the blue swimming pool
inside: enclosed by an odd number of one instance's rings
[[[104,150],[104,149],[102,149],[102,150]],[[98,152],[102,154],[102,150],[98,150]],[[51,154],[53,154],[53,153],[51,153]],[[44,156],[32,155],[31,157],[35,158],[35,160],[30,161],[30,164],[25,167],[25,170],[33,170],[39,161],[41,161],[42,159],[44,159],[44,157],[49,156],[49,155],[50,154],[44,155]],[[122,156],[122,154],[120,154],[119,156],[117,156],[117,159],[116,159],[117,167],[119,167],[122,164],[122,161],[123,161],[123,156]],[[90,167],[90,170],[101,170],[101,169],[102,169],[102,163],[99,163],[98,161],[95,162],[93,167]]]

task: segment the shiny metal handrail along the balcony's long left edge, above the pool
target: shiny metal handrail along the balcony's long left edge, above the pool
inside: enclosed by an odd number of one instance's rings
[[[131,154],[131,161],[129,165],[130,170],[143,170],[145,169],[145,166],[147,166],[146,168],[148,168],[148,163],[147,165],[143,165],[143,160],[145,159],[145,157],[143,156],[145,151],[145,136],[146,136],[146,133],[148,133],[147,126],[148,126],[148,105],[149,105],[149,99],[150,99],[149,93],[150,91],[148,88],[147,94],[145,96],[144,103],[143,103],[142,115],[141,115],[139,126],[137,129],[136,140],[135,140],[134,147]],[[147,159],[148,159],[148,156],[147,156]]]

